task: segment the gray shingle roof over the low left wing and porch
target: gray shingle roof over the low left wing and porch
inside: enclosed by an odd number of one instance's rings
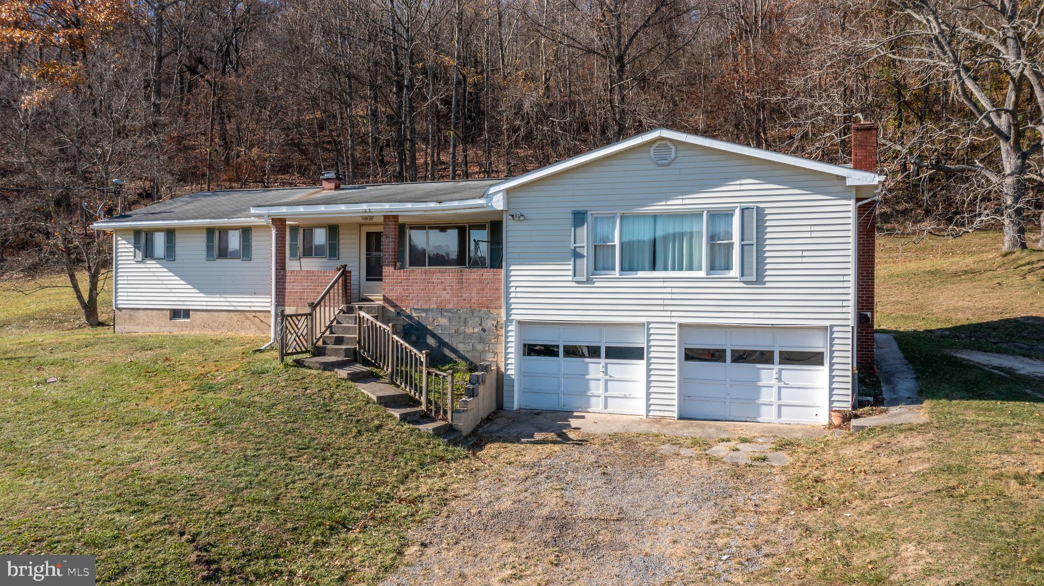
[[[337,205],[352,203],[418,203],[460,201],[482,197],[487,188],[503,179],[420,181],[345,186],[337,191],[318,187],[200,191],[160,201],[103,220],[104,223],[250,218],[251,207]]]

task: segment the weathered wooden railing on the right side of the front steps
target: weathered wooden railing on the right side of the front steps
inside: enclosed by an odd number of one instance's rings
[[[359,353],[388,373],[388,380],[421,401],[436,419],[451,421],[453,373],[428,366],[430,352],[418,350],[373,316],[359,314]]]

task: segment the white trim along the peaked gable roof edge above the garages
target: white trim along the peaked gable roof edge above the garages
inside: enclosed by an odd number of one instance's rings
[[[507,191],[513,188],[517,188],[542,179],[544,177],[548,177],[550,175],[575,169],[577,167],[587,165],[588,163],[606,158],[618,152],[632,149],[637,146],[650,143],[652,141],[657,141],[659,139],[668,139],[671,141],[678,141],[690,145],[712,148],[726,152],[741,154],[744,156],[751,156],[754,158],[760,158],[763,161],[781,163],[783,165],[789,165],[791,167],[808,169],[810,171],[817,171],[821,173],[827,173],[830,175],[845,177],[845,182],[846,185],[849,186],[876,186],[879,185],[884,179],[882,175],[879,175],[871,171],[860,171],[858,169],[852,169],[850,167],[841,167],[840,165],[831,165],[829,163],[812,161],[811,158],[803,158],[801,156],[793,156],[791,154],[783,154],[781,152],[775,152],[770,150],[738,145],[735,143],[718,141],[715,139],[708,139],[707,137],[699,137],[697,135],[679,132],[678,130],[669,130],[667,128],[657,128],[655,130],[649,130],[648,132],[644,132],[642,135],[638,135],[630,139],[624,139],[620,142],[613,143],[611,145],[607,145],[589,152],[585,152],[584,154],[578,154],[576,156],[567,158],[565,161],[561,161],[559,163],[554,163],[546,167],[541,167],[540,169],[530,171],[528,173],[519,175],[517,177],[506,179],[504,181],[501,181],[499,184],[490,187],[490,192],[494,193],[494,192]]]

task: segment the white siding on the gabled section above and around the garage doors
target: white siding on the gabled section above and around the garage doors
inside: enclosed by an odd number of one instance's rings
[[[852,197],[843,177],[688,144],[667,167],[649,161],[645,145],[508,190],[511,210],[525,220],[504,223],[504,406],[515,405],[517,321],[561,320],[645,322],[646,415],[666,417],[678,410],[680,324],[829,327],[832,407],[850,407]],[[739,205],[758,206],[753,282],[739,280],[735,267],[720,276],[572,280],[572,211]]]

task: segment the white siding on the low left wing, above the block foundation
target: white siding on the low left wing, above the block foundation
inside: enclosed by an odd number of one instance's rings
[[[134,260],[134,231],[116,233],[118,309],[271,309],[271,230],[254,226],[251,261],[207,260],[207,228],[176,228],[173,261]]]

